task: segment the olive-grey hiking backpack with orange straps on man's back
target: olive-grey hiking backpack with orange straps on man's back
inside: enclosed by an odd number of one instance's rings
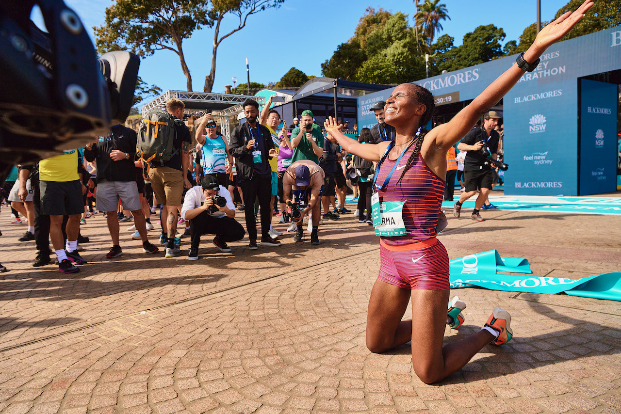
[[[147,165],[150,161],[159,162],[161,166],[170,160],[179,151],[173,151],[173,141],[177,136],[175,124],[181,122],[163,109],[152,109],[143,115],[136,144],[140,160]]]

